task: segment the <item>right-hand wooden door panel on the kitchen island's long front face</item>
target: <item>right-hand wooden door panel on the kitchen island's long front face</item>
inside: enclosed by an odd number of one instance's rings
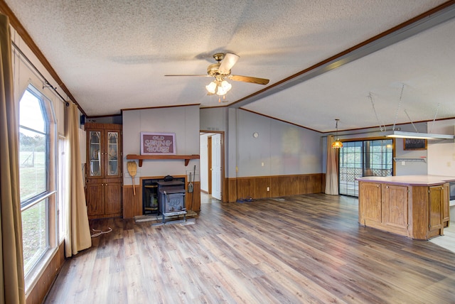
[[[405,233],[408,227],[408,188],[382,185],[382,224],[391,232]]]

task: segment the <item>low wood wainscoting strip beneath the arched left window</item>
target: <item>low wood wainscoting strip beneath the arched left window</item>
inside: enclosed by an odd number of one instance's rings
[[[58,246],[57,252],[55,252],[48,266],[45,267],[43,273],[36,281],[35,285],[31,287],[31,291],[26,294],[26,304],[40,304],[43,303],[45,296],[50,291],[55,278],[57,278],[60,269],[65,262],[65,243],[62,242]]]

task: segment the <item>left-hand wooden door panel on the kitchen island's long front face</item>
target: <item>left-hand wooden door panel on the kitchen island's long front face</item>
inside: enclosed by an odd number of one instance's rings
[[[360,183],[359,223],[365,226],[381,222],[381,185],[379,183]]]

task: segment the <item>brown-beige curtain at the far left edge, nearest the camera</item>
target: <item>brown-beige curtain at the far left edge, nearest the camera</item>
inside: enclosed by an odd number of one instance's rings
[[[13,96],[9,20],[0,14],[0,303],[26,303],[19,194],[18,102]]]

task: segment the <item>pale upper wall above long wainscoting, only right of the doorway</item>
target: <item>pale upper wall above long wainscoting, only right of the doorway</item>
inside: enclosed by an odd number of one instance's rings
[[[239,177],[322,172],[319,132],[243,110],[237,124]]]

